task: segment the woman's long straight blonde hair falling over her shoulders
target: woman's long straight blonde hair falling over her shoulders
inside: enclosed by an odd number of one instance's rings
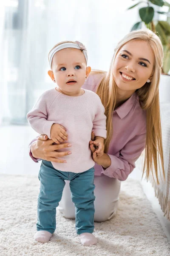
[[[119,50],[127,44],[129,41],[144,40],[146,41],[150,49],[153,50],[155,56],[152,81],[150,85],[144,84],[143,87],[136,90],[136,94],[139,96],[139,102],[142,109],[146,110],[147,116],[147,134],[146,134],[146,145],[145,145],[145,156],[144,156],[144,168],[143,175],[146,170],[146,178],[148,180],[150,171],[153,175],[153,167],[156,175],[156,181],[159,184],[158,179],[158,165],[160,171],[160,159],[161,166],[164,175],[164,160],[162,150],[162,139],[161,139],[161,122],[160,122],[160,111],[159,111],[159,79],[163,61],[163,49],[159,37],[149,29],[136,30],[128,33],[125,37],[119,41],[108,73],[96,70],[92,73],[103,73],[105,74],[102,81],[100,82],[96,93],[99,95],[102,104],[105,107],[106,128],[108,136],[105,140],[105,153],[108,152],[109,143],[113,135],[112,117],[113,110],[116,105],[117,90],[116,83],[113,78],[113,65]],[[160,159],[159,159],[160,158]],[[142,177],[143,177],[142,175]],[[154,178],[154,177],[153,177]]]

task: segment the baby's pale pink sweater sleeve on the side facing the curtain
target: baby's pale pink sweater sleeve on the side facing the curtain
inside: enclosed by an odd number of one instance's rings
[[[46,134],[51,139],[50,131],[54,121],[48,121],[48,109],[50,107],[50,101],[47,101],[46,93],[37,100],[33,109],[27,113],[27,120],[34,131],[39,134]]]

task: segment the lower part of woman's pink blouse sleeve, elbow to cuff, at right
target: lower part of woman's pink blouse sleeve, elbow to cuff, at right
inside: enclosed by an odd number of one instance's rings
[[[145,148],[146,133],[136,135],[116,155],[108,154],[111,166],[102,169],[102,173],[118,180],[126,180],[135,168],[135,162]]]

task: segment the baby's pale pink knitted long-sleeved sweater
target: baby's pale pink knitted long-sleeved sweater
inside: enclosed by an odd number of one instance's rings
[[[85,89],[84,89],[85,90]],[[54,123],[66,128],[68,141],[72,144],[71,155],[60,157],[67,163],[54,163],[55,169],[63,172],[85,172],[94,166],[91,157],[89,141],[91,131],[95,136],[106,138],[105,108],[99,96],[85,90],[82,96],[67,96],[51,89],[45,91],[28,112],[27,119],[31,127],[39,134],[47,134],[50,137],[51,126]],[[68,148],[59,150],[68,151]]]

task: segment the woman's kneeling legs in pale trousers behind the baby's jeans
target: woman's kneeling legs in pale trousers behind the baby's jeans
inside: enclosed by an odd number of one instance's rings
[[[111,219],[117,211],[120,181],[106,175],[94,176],[94,221],[107,221]],[[59,211],[65,218],[75,218],[75,208],[71,201],[69,182],[65,181],[62,193],[62,200],[59,202]]]

